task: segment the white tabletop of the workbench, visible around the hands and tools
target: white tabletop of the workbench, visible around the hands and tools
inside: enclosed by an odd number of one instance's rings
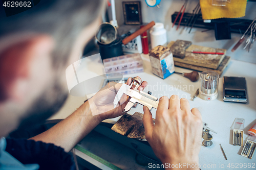
[[[241,168],[240,163],[243,163],[243,166],[244,163],[247,165],[248,163],[256,163],[255,154],[252,160],[239,155],[242,148],[231,145],[232,138],[230,133],[230,126],[236,117],[245,119],[245,138],[248,135],[247,130],[249,130],[256,123],[256,64],[231,60],[219,79],[218,98],[214,101],[204,101],[198,96],[194,101],[191,101],[192,96],[200,87],[199,81],[193,83],[187,78],[184,78],[178,74],[172,74],[163,80],[152,74],[148,55],[141,56],[143,59],[144,72],[133,75],[124,75],[124,77],[141,77],[142,80],[148,82],[148,86],[144,91],[151,91],[152,95],[156,96],[157,98],[160,98],[162,95],[170,97],[173,94],[179,95],[180,98],[186,98],[189,101],[191,108],[196,107],[199,109],[203,117],[203,122],[208,123],[208,127],[210,129],[218,132],[217,134],[210,132],[213,136],[213,145],[211,145],[211,147],[201,147],[199,163],[202,169],[234,169],[231,167],[231,165],[237,166],[238,164],[238,168],[247,169],[248,167]],[[191,72],[189,69],[180,67],[175,67],[175,70],[178,72]],[[249,98],[249,102],[247,104],[223,102],[223,76],[246,78]],[[70,96],[65,106],[50,119],[66,118],[73,111],[75,111],[75,109],[78,108],[84,102],[84,100],[86,100],[86,97]],[[136,111],[143,113],[142,106],[138,105],[136,108],[132,108],[129,113],[133,114]],[[153,117],[155,117],[155,112],[156,111],[153,109]],[[105,120],[105,122],[115,123],[118,118]],[[224,159],[219,143],[221,143],[228,160]],[[223,163],[225,163],[224,168],[220,168],[220,164],[223,165]],[[230,167],[227,167],[229,163]],[[206,167],[203,167],[203,165]],[[256,165],[254,165],[254,168],[256,169]]]

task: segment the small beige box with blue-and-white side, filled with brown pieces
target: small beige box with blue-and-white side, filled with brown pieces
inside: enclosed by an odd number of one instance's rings
[[[162,79],[167,78],[174,72],[173,54],[165,46],[158,45],[150,51],[150,62],[153,74]]]

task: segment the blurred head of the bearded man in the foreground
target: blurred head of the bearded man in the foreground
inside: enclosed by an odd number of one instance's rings
[[[62,106],[65,69],[94,36],[102,9],[102,0],[42,0],[0,16],[0,137]]]

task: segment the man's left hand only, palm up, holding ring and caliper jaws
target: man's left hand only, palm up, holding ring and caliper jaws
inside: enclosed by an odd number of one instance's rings
[[[140,77],[138,77],[140,79]],[[125,84],[130,85],[132,83],[132,78],[129,78]],[[141,83],[138,90],[143,90],[147,85],[146,81]],[[126,106],[127,102],[129,102],[128,96],[123,95],[120,99],[120,106],[117,105],[114,108],[114,99],[116,93],[120,89],[122,84],[110,82],[105,87],[103,87],[100,91],[98,91],[91,99],[89,99],[89,105],[92,110],[92,114],[97,116],[100,122],[107,118],[114,118],[122,115],[124,107]],[[134,86],[133,86],[134,88]]]

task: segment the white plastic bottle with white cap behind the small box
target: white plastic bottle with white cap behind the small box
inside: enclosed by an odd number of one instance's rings
[[[167,45],[166,30],[163,23],[156,22],[156,25],[150,30],[150,40],[152,49],[157,45]]]

